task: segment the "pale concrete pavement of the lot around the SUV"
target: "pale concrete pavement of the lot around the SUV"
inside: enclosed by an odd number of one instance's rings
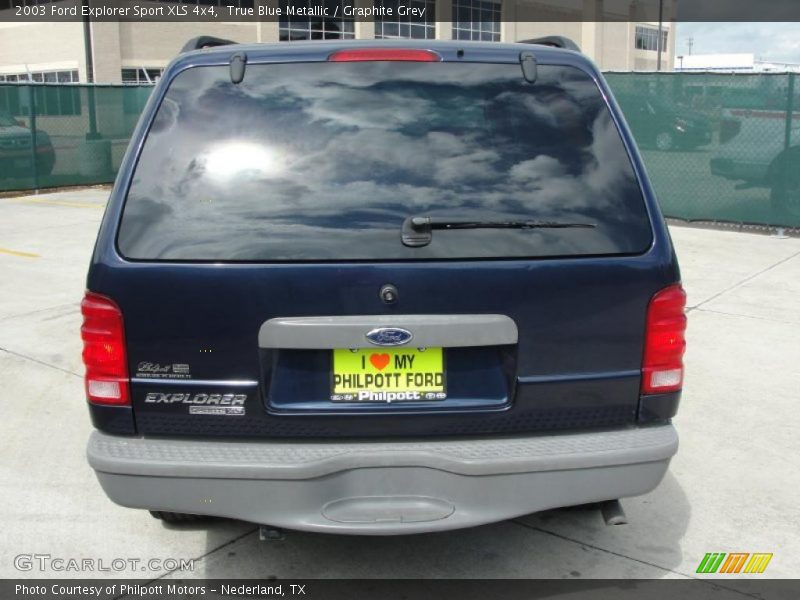
[[[628,525],[575,508],[448,533],[259,542],[250,524],[165,527],[115,506],[86,465],[78,304],[106,196],[0,198],[0,576],[683,578],[706,552],[736,551],[774,553],[761,577],[797,576],[800,239],[672,227],[690,306],[681,449],[658,489],[623,502]],[[35,553],[196,563],[15,568]]]

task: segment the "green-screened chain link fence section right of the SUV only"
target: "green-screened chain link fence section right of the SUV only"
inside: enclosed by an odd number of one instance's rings
[[[665,215],[800,227],[794,73],[606,73]]]

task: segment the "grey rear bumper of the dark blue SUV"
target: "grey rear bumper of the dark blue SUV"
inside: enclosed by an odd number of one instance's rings
[[[672,425],[581,434],[392,441],[213,441],[92,433],[116,503],[353,534],[469,527],[654,489]]]

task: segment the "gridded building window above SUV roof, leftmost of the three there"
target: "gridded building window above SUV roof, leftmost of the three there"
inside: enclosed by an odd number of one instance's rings
[[[351,0],[281,0],[278,32],[282,42],[294,40],[352,40],[356,37],[355,19],[344,17],[345,5]],[[325,7],[328,16],[298,15],[302,8],[308,13]],[[334,17],[334,15],[336,15]]]

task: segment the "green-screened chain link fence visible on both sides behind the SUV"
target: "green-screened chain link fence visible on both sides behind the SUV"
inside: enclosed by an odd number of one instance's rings
[[[665,215],[800,227],[795,77],[606,74]],[[112,182],[151,90],[0,84],[0,191]]]

